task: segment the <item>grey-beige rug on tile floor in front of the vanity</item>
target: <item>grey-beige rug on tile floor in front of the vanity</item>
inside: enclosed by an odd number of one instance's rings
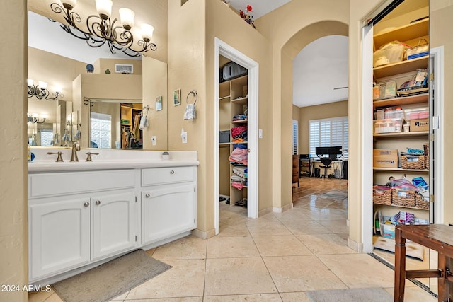
[[[109,301],[170,268],[144,250],[135,250],[52,287],[65,302]]]

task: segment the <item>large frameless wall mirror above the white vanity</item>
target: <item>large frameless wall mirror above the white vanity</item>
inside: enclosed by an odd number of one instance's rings
[[[33,86],[46,82],[51,99],[28,98],[31,146],[79,141],[82,148],[167,149],[166,63],[88,47],[47,17],[28,15],[28,78]],[[62,46],[69,48],[67,55]],[[88,59],[74,59],[75,47]],[[152,74],[144,75],[144,65],[151,65]],[[143,79],[155,84],[142,88]],[[163,110],[156,111],[158,97]],[[142,117],[146,125],[139,124]],[[159,137],[158,144],[151,137]]]

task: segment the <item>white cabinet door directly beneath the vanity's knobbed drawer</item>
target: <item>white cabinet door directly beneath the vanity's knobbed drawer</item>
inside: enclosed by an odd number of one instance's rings
[[[143,244],[196,228],[195,185],[174,185],[142,192]]]

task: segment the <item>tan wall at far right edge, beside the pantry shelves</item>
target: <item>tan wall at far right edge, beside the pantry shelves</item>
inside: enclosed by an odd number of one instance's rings
[[[453,81],[453,36],[451,29],[453,26],[453,2],[451,0],[431,0],[430,1],[430,47],[444,47],[444,108],[445,115],[442,121],[444,137],[437,137],[444,143],[444,161],[449,160],[448,155],[453,148],[451,133],[453,132],[453,120],[447,118],[447,112],[453,112],[453,87],[449,83]],[[453,182],[453,170],[443,170],[443,182],[445,190],[443,196],[436,196],[435,200],[442,199],[444,202],[444,223],[453,223],[453,202],[447,187]]]

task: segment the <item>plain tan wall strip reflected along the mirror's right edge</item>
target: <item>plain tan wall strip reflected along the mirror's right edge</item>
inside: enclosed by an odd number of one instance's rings
[[[149,127],[143,130],[143,149],[168,150],[168,78],[167,64],[150,57],[142,57],[143,75],[143,107],[149,106],[147,119]],[[156,97],[162,97],[162,110],[156,111]],[[173,100],[172,100],[173,101]],[[144,111],[146,113],[146,111]],[[151,143],[151,137],[156,137],[156,146]]]

